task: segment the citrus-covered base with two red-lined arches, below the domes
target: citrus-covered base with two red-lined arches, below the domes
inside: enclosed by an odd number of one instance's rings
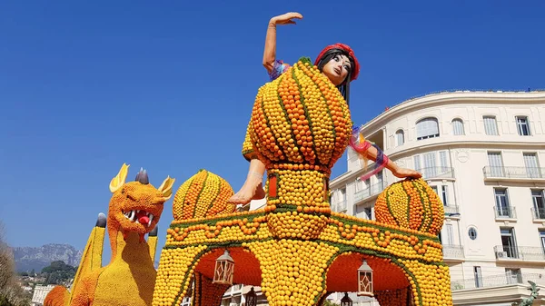
[[[173,222],[153,304],[179,305],[194,279],[195,288],[201,288],[193,290],[194,305],[219,305],[229,286],[213,284],[213,270],[226,249],[235,262],[233,283],[261,286],[274,306],[290,299],[299,301],[292,305],[316,305],[328,291],[357,291],[357,269],[364,258],[372,267],[379,302],[452,304],[449,269],[436,236],[332,212],[317,239],[281,239],[267,224],[267,215],[276,213],[237,212]],[[398,295],[404,298],[394,298]]]

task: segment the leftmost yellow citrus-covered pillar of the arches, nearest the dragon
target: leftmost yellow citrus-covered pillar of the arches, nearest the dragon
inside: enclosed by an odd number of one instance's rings
[[[187,294],[193,269],[199,262],[205,245],[163,249],[155,280],[154,306],[180,305]]]

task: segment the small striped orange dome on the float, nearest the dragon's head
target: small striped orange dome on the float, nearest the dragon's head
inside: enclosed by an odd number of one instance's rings
[[[234,212],[235,205],[227,202],[233,188],[220,176],[199,170],[185,181],[174,195],[174,220],[211,217]]]

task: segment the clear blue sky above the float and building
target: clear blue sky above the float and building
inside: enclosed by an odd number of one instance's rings
[[[387,4],[388,3],[388,4]],[[83,249],[122,163],[177,189],[200,168],[238,190],[268,20],[278,58],[350,44],[352,118],[449,89],[545,87],[542,1],[3,1],[0,220],[14,246]],[[342,158],[333,176],[346,169]],[[160,247],[173,220],[160,222]]]

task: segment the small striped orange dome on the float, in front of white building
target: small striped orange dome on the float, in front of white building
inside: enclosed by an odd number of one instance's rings
[[[444,208],[437,193],[420,179],[392,183],[375,202],[378,222],[403,229],[437,235],[442,228]]]

